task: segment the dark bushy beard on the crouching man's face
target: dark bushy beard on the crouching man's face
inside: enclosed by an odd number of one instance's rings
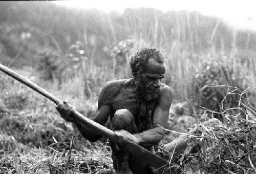
[[[158,98],[160,94],[159,90],[157,90],[156,92],[147,90],[147,86],[143,82],[141,77],[134,78],[134,80],[135,80],[135,86],[136,86],[136,90],[139,95],[139,98],[143,97],[146,101],[151,101]]]

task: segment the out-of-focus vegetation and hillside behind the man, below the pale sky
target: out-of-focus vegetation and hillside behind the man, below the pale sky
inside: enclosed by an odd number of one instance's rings
[[[255,36],[195,11],[127,8],[120,14],[51,2],[0,2],[0,63],[70,100],[88,117],[106,81],[132,76],[129,57],[143,46],[167,55],[163,82],[172,87],[174,104],[191,101],[194,115],[207,110],[237,114],[229,110],[236,107],[255,114]],[[50,101],[3,73],[0,90],[3,148],[13,146],[9,136],[46,147],[73,135],[77,147],[88,145]],[[179,131],[188,126],[178,126]]]

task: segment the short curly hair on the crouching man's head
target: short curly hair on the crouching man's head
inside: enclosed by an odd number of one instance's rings
[[[157,60],[159,63],[163,63],[166,56],[157,48],[145,47],[139,49],[131,56],[129,62],[133,75],[142,74],[150,58]]]

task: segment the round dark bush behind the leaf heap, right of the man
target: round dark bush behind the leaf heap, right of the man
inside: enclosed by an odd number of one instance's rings
[[[233,59],[224,57],[222,61],[211,59],[199,64],[197,74],[192,81],[194,101],[197,105],[216,112],[241,107],[240,109],[245,112],[240,103],[244,97],[248,97],[243,93],[248,87],[248,82],[242,64],[237,66],[238,61],[235,62]]]

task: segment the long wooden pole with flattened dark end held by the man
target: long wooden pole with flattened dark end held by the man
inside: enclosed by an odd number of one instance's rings
[[[39,94],[47,97],[48,99],[53,101],[56,105],[59,105],[59,104],[62,103],[62,100],[53,96],[52,94],[50,94],[46,90],[42,89],[40,86],[38,86],[37,84],[35,84],[31,80],[27,79],[26,77],[23,77],[23,76],[17,74],[16,72],[12,71],[11,69],[3,66],[3,64],[1,64],[1,63],[0,63],[0,70],[3,71],[4,73],[6,73],[7,75],[13,77],[14,79],[22,82],[23,84],[29,86],[29,88],[33,89],[34,91],[38,92]],[[74,117],[76,117],[76,119],[80,123],[82,123],[83,125],[93,128],[95,131],[97,131],[101,135],[109,138],[111,141],[116,142],[115,133],[112,130],[110,130],[110,129],[104,127],[103,125],[101,125],[101,124],[83,116],[82,114],[80,114],[77,111],[74,111]],[[124,147],[126,148],[127,151],[129,151],[131,154],[138,157],[139,159],[141,159],[142,161],[144,161],[148,165],[151,165],[155,168],[160,168],[160,167],[165,166],[168,163],[168,161],[166,161],[166,160],[160,158],[159,156],[151,153],[151,151],[139,146],[138,144],[135,144],[135,143],[133,143],[131,141],[128,141],[128,140],[124,144],[125,144]]]

